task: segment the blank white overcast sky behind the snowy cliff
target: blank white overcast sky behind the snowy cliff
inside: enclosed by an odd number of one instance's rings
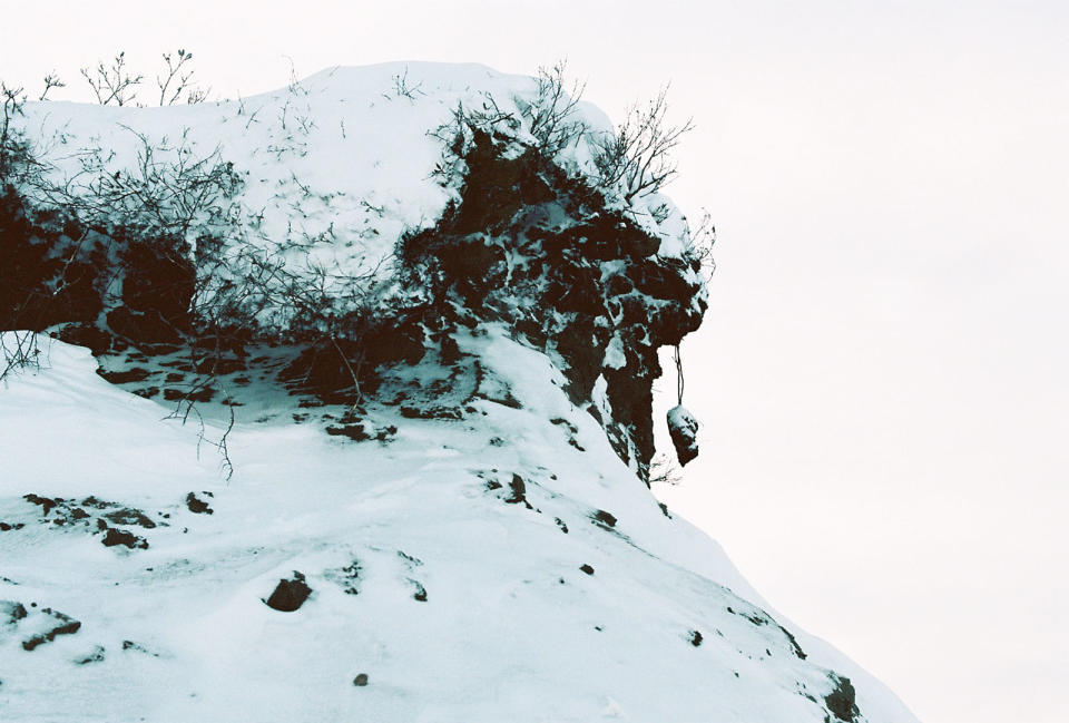
[[[216,96],[286,56],[567,57],[615,117],[670,80],[719,267],[664,496],[922,720],[1069,720],[1069,3],[0,3],[0,78],[59,98],[178,47]]]

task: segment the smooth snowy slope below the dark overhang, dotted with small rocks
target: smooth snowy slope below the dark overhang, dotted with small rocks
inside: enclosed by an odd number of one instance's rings
[[[41,336],[0,388],[4,719],[915,721],[663,514],[545,354],[458,343],[514,403],[383,410],[386,442],[239,423],[225,482],[195,427]],[[310,594],[269,606],[284,580]]]

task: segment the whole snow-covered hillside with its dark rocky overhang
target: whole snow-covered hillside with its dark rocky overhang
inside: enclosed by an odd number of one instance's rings
[[[412,63],[27,106],[0,719],[914,720],[643,483],[704,283],[666,198],[590,182],[607,119],[548,154],[537,96]],[[153,195],[190,167],[210,203]]]

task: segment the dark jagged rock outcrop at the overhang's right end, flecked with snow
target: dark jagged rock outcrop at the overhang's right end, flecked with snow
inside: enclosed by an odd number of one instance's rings
[[[459,302],[559,358],[571,401],[648,480],[657,349],[698,328],[703,282],[693,265],[658,256],[660,240],[582,179],[510,143],[474,133],[460,205],[402,240],[408,284],[430,296],[428,315],[455,323]],[[507,261],[516,256],[522,263]]]

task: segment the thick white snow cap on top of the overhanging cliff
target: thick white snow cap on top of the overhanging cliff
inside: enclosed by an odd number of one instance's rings
[[[193,223],[182,224],[192,260],[205,237],[223,240],[222,248],[210,252],[218,263],[202,262],[198,273],[214,276],[207,285],[215,287],[241,280],[257,271],[255,250],[259,260],[321,283],[341,315],[354,307],[354,279],[377,285],[374,294],[389,294],[398,242],[433,226],[450,204],[460,202],[463,168],[447,173],[455,164],[438,135],[453,111],[482,110],[492,99],[501,114],[516,119],[513,139],[533,144],[520,104],[536,95],[537,81],[530,77],[479,65],[410,62],[339,67],[276,91],[187,106],[29,102],[17,121],[53,190],[30,186],[20,192],[42,208],[55,207],[66,195],[91,198],[101,179],[117,173],[146,176],[146,149],[156,169],[232,164],[233,196],[216,199]],[[569,174],[592,176],[590,138],[611,124],[587,102],[577,106],[571,120],[590,133],[556,163]],[[63,196],[55,188],[62,188]],[[659,254],[683,255],[685,223],[668,198],[653,194],[625,203],[611,189],[607,195],[618,212],[661,240]],[[659,224],[651,213],[658,206],[668,216]],[[130,223],[125,202],[104,212],[94,223]],[[366,296],[364,291],[361,300]],[[261,324],[284,329],[291,322],[286,304],[258,303]]]

